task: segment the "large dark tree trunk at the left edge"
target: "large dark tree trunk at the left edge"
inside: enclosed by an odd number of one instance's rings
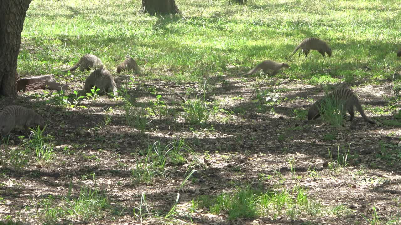
[[[16,96],[17,57],[31,0],[0,0],[0,96]]]

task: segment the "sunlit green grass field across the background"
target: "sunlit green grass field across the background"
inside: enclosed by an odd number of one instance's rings
[[[33,0],[18,73],[61,74],[63,64],[91,52],[109,70],[130,54],[151,77],[200,80],[204,74],[245,71],[265,59],[284,61],[309,36],[326,40],[332,57],[295,55],[283,77],[312,83],[322,74],[332,81],[381,80],[399,65],[397,0],[253,0],[247,5],[177,0],[177,5],[184,16],[146,16],[138,12],[140,1],[131,0]],[[164,68],[174,76],[160,72]]]

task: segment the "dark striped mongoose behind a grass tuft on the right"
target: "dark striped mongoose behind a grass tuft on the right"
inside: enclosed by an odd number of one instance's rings
[[[324,107],[326,107],[326,104],[328,102],[332,101],[332,103],[337,103],[338,107],[341,107],[342,109],[342,115],[345,118],[346,117],[346,111],[351,116],[350,121],[354,119],[354,106],[356,107],[356,110],[360,113],[360,115],[368,121],[371,124],[376,124],[376,122],[371,121],[366,115],[365,112],[363,112],[362,106],[358,100],[358,97],[352,92],[352,90],[348,88],[341,88],[334,90],[330,92],[329,94],[326,94],[322,98],[316,100],[315,103],[310,106],[309,111],[308,111],[308,120],[314,120],[320,117],[324,113]]]

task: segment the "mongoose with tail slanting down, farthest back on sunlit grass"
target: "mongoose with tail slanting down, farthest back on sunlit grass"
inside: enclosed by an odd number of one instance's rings
[[[324,53],[327,53],[327,55],[331,57],[331,48],[325,41],[322,41],[318,38],[305,38],[300,44],[298,44],[298,46],[287,59],[293,56],[300,48],[302,49],[302,52],[299,53],[299,56],[304,53],[305,56],[308,57],[310,50],[317,50],[320,54],[322,54],[323,57]]]

